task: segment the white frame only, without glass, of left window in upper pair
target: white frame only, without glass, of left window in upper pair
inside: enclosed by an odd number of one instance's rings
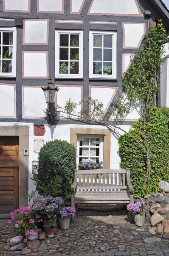
[[[59,46],[60,34],[79,35],[79,74],[59,74]],[[56,30],[55,31],[55,77],[56,78],[83,78],[83,31]]]

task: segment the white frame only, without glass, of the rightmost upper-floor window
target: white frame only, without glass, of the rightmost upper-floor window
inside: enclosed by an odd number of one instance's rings
[[[113,35],[112,75],[93,74],[93,35]],[[103,49],[103,46],[101,49]],[[102,53],[102,56],[103,56],[103,53]],[[117,79],[117,32],[107,32],[107,31],[90,31],[89,32],[89,78]]]

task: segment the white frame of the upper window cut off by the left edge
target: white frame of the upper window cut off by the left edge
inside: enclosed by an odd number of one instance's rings
[[[17,61],[17,29],[13,28],[0,28],[0,32],[13,32],[13,44],[12,44],[12,72],[0,73],[0,77],[16,77],[16,61]],[[1,38],[2,40],[2,38]],[[2,43],[2,41],[1,41]],[[2,65],[2,64],[1,64]]]

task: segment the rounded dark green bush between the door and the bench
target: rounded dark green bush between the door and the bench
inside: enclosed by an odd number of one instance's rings
[[[76,169],[76,148],[65,140],[54,140],[46,143],[39,152],[37,180],[39,186],[48,186],[54,177],[62,178],[61,195],[70,191]]]

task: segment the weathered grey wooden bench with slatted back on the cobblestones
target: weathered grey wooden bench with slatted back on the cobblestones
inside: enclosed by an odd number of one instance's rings
[[[77,170],[71,186],[71,205],[133,203],[130,168]]]

